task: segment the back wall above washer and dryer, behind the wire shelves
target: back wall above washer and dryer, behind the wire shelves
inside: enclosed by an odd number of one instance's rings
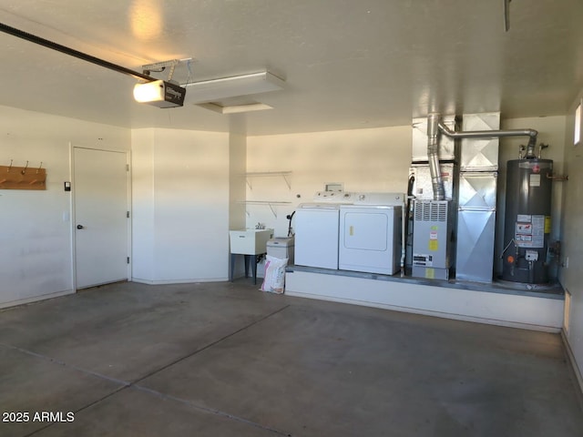
[[[406,192],[411,164],[412,128],[382,127],[247,138],[247,171],[292,171],[288,188],[282,177],[251,178],[248,200],[290,202],[248,205],[247,227],[258,222],[288,233],[286,215],[299,203],[312,202],[324,184],[342,182],[345,191]]]

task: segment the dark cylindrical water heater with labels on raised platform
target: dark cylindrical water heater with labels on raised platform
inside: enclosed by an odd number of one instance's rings
[[[550,159],[524,158],[507,163],[503,280],[548,282],[552,173]]]

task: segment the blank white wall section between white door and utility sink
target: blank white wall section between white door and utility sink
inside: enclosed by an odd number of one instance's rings
[[[132,132],[134,280],[225,280],[229,259],[229,135]]]

